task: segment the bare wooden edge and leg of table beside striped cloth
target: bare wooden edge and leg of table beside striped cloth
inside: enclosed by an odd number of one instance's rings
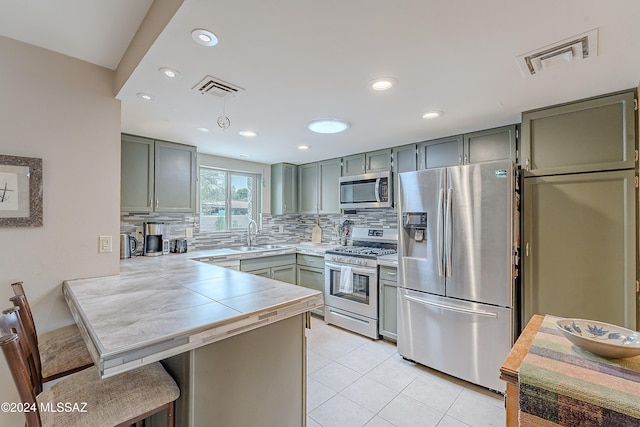
[[[518,426],[518,395],[520,387],[518,385],[518,370],[522,360],[529,353],[529,347],[533,342],[544,316],[535,315],[529,320],[527,327],[522,331],[507,358],[500,367],[500,379],[507,383],[505,399],[507,402],[507,427]]]

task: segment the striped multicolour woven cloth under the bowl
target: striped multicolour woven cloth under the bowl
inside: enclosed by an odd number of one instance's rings
[[[640,426],[640,356],[582,350],[557,330],[558,319],[545,316],[520,366],[520,426]]]

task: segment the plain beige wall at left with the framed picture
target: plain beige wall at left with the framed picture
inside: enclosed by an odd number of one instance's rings
[[[0,52],[0,154],[42,158],[44,185],[43,227],[0,228],[0,307],[23,280],[44,332],[73,321],[64,279],[119,269],[120,103],[111,70],[4,37]],[[112,253],[98,254],[99,235]],[[17,402],[1,356],[0,384],[0,402]]]

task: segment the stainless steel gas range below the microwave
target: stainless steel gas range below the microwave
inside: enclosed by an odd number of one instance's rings
[[[378,256],[397,253],[398,231],[354,227],[352,246],[325,253],[324,320],[378,339]]]

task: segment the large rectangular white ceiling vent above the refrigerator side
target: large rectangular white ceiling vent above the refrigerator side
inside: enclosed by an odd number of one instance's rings
[[[550,67],[598,55],[598,29],[516,57],[522,75],[535,75]]]

